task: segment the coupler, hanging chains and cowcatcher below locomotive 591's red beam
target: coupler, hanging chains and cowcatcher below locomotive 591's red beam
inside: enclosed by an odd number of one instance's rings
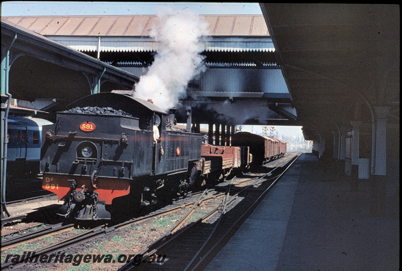
[[[79,220],[111,219],[111,213],[106,211],[105,202],[98,201],[96,192],[73,191],[62,208],[65,210],[63,216],[66,218]]]

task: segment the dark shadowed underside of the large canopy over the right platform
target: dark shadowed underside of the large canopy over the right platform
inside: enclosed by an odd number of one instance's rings
[[[399,127],[398,5],[260,7],[306,139],[351,120],[371,125],[375,107],[389,108],[387,124]]]

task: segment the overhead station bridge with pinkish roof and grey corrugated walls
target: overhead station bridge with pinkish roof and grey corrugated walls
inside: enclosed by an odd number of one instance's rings
[[[219,120],[220,123],[213,124],[231,127],[268,123],[297,125],[296,112],[277,65],[277,54],[263,16],[209,15],[203,18],[209,25],[210,33],[210,36],[200,38],[200,44],[205,48],[201,54],[207,69],[188,82],[186,97],[181,99],[182,107],[177,111],[181,116],[179,118],[185,122],[187,109],[191,108],[192,122],[198,124]],[[5,17],[2,22],[26,28],[44,39],[140,78],[153,64],[161,46],[150,35],[158,19],[157,16],[46,16]],[[38,66],[38,63],[33,65]],[[17,68],[16,74],[21,74]],[[39,70],[47,74],[47,78],[55,75],[53,68]],[[36,74],[35,77],[40,76]],[[17,84],[18,81],[11,80],[10,87],[15,91],[26,87],[21,85],[22,82]],[[72,86],[83,89],[82,86]],[[133,89],[127,85],[115,87],[127,91]],[[99,91],[110,91],[110,88],[101,85]],[[37,93],[38,101],[44,98],[41,92],[40,89],[32,91]],[[56,96],[52,98],[65,99],[65,92]],[[23,98],[26,97],[20,99]],[[257,106],[254,110],[250,109],[250,104],[254,103]]]

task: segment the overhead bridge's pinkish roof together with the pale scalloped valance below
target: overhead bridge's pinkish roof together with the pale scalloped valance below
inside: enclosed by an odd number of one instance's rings
[[[262,15],[205,15],[209,52],[273,52]],[[81,52],[151,52],[159,43],[149,37],[157,16],[37,16],[2,17],[37,34]]]

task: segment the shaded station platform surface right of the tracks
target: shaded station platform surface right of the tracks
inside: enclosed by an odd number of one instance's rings
[[[355,183],[303,153],[205,270],[399,270],[398,190]]]

